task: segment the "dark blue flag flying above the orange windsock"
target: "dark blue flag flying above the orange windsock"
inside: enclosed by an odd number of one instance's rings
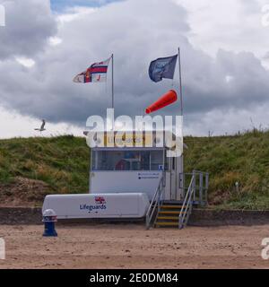
[[[171,57],[160,57],[152,61],[149,68],[149,76],[155,83],[160,82],[162,78],[173,79],[178,55]]]

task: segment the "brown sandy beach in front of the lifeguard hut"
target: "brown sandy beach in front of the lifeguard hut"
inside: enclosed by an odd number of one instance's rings
[[[269,268],[261,242],[269,225],[144,230],[138,224],[0,227],[0,268]]]

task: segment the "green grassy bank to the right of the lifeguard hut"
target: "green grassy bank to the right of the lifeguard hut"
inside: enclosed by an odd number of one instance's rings
[[[269,132],[185,138],[186,171],[210,173],[209,202],[221,208],[269,209]],[[239,182],[239,191],[235,183]]]

